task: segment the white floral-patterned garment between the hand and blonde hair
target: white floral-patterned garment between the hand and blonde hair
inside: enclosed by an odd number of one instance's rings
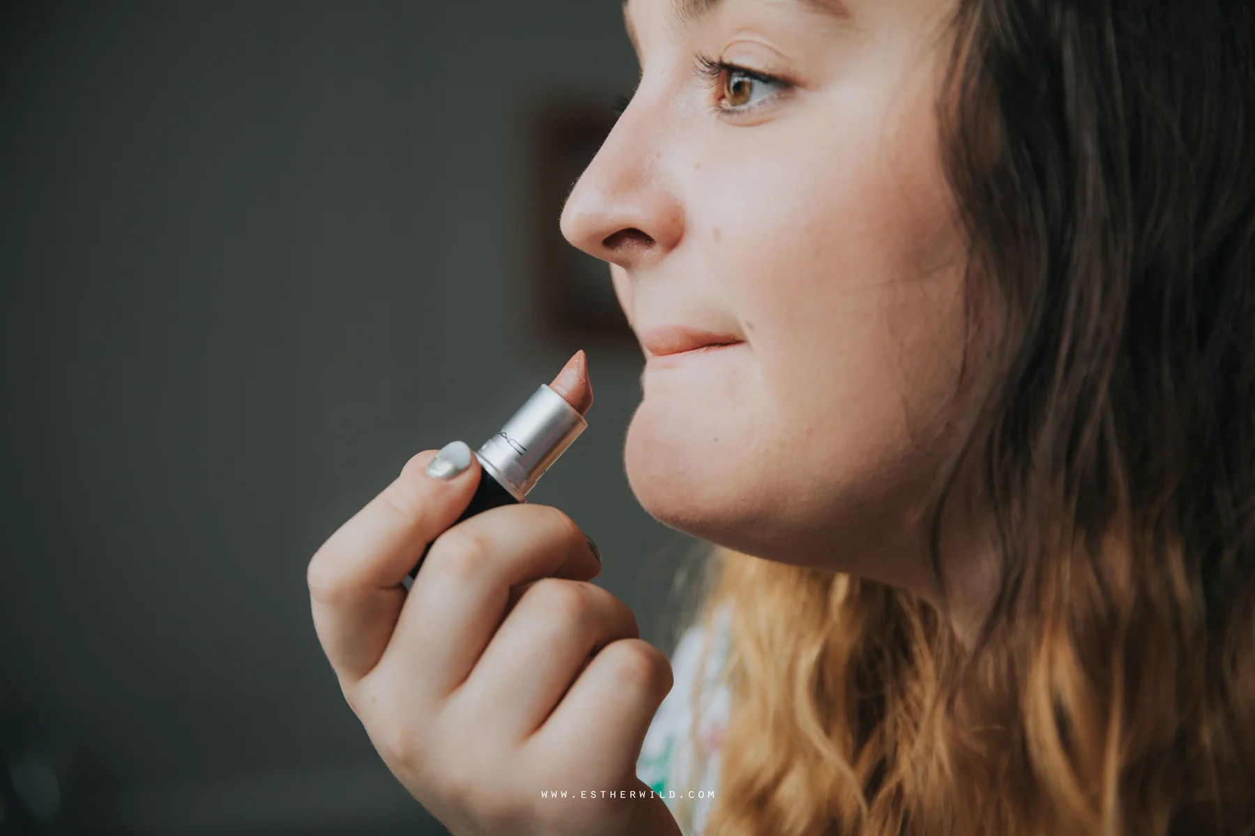
[[[636,761],[636,777],[663,796],[684,836],[700,836],[714,801],[719,750],[728,722],[728,686],[718,682],[718,674],[728,654],[729,618],[725,605],[715,617],[715,635],[704,672],[702,726],[695,731],[705,756],[699,763],[692,739],[698,657],[705,637],[705,629],[694,624],[681,634],[671,654],[671,691],[654,714]]]

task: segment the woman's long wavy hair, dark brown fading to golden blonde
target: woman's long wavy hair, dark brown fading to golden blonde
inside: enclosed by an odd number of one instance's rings
[[[1255,8],[959,0],[949,34],[940,147],[999,321],[931,556],[975,461],[996,597],[965,647],[906,592],[717,549],[707,832],[1252,833]]]

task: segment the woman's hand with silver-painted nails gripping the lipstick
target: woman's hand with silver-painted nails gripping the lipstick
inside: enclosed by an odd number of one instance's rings
[[[434,479],[434,455],[410,459],[309,565],[319,640],[375,748],[456,836],[679,836],[635,775],[671,688],[666,657],[587,583],[601,564],[566,514],[525,503],[453,525],[491,476],[471,456]]]

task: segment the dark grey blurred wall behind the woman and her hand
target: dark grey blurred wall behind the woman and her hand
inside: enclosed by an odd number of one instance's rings
[[[631,495],[640,350],[557,237],[635,81],[617,0],[4,4],[0,833],[444,832],[305,568],[577,348],[590,426],[530,499],[670,652],[698,544]]]

